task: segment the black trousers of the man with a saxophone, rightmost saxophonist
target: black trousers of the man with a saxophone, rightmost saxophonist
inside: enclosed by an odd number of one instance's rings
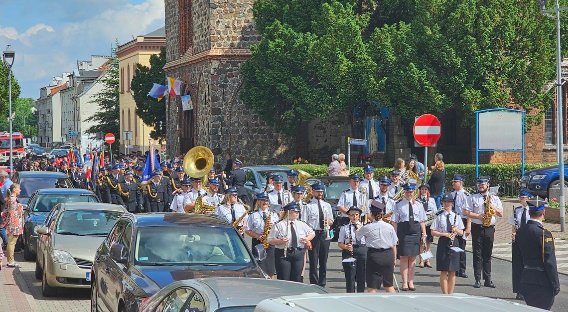
[[[473,249],[473,274],[476,281],[491,280],[491,254],[495,226],[482,227],[481,224],[471,224],[471,248]]]

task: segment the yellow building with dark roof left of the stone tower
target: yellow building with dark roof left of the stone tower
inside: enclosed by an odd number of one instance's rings
[[[150,66],[150,56],[159,54],[160,48],[166,45],[165,27],[153,31],[144,36],[119,45],[116,56],[119,59],[120,78],[120,152],[126,152],[127,145],[132,145],[131,151],[148,150],[148,134],[153,127],[146,126],[140,117],[136,115],[136,103],[132,98],[130,83],[136,69],[136,64]],[[149,91],[149,90],[148,90]],[[165,126],[165,125],[164,125]],[[132,131],[132,140],[124,140],[124,132]],[[156,148],[160,148],[154,142]]]

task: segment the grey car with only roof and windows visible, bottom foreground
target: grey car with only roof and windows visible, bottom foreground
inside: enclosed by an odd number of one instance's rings
[[[266,298],[303,293],[327,294],[318,285],[262,278],[212,277],[174,282],[144,299],[140,312],[252,312]],[[206,306],[207,304],[207,306]],[[347,311],[347,310],[346,310]]]

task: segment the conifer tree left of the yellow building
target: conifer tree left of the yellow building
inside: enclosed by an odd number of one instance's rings
[[[118,49],[118,41],[115,42],[115,47],[112,49],[112,58],[108,61],[108,69],[95,81],[95,84],[102,84],[103,87],[99,93],[91,96],[93,105],[97,105],[100,109],[89,118],[85,119],[87,122],[97,122],[94,126],[90,126],[85,130],[86,134],[93,137],[97,132],[103,134],[112,133],[115,135],[115,143],[112,144],[113,153],[118,154],[118,147],[120,145],[120,109],[119,109],[119,74],[118,74],[118,57],[116,57],[116,50]]]

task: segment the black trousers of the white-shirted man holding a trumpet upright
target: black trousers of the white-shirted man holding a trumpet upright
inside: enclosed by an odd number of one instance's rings
[[[311,240],[312,250],[308,250],[308,257],[310,257],[310,284],[317,284],[321,287],[325,287],[325,276],[327,274],[327,257],[329,255],[329,243],[331,243],[331,239],[325,239],[325,231],[314,231],[316,233],[316,236]]]

